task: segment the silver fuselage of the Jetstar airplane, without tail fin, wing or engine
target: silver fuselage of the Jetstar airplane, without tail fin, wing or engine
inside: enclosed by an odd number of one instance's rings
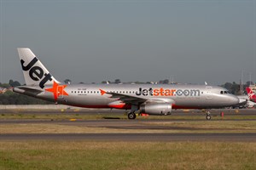
[[[37,87],[31,87],[37,88]],[[47,88],[51,88],[46,86]],[[172,109],[207,109],[236,105],[238,99],[232,94],[225,94],[226,89],[206,85],[167,85],[167,84],[77,84],[67,85],[67,95],[59,92],[55,100],[52,92],[42,91],[39,94],[28,94],[39,99],[56,101],[65,105],[90,108],[130,109],[129,102],[123,103],[119,98],[111,98],[112,94],[121,94],[129,98],[172,104]],[[102,94],[101,90],[106,94]],[[14,89],[26,94],[26,91]],[[223,92],[223,93],[221,93]]]

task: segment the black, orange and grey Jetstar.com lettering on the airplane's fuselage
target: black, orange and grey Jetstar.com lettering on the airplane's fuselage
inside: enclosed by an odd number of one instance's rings
[[[143,96],[200,96],[199,89],[139,88],[136,95]]]

